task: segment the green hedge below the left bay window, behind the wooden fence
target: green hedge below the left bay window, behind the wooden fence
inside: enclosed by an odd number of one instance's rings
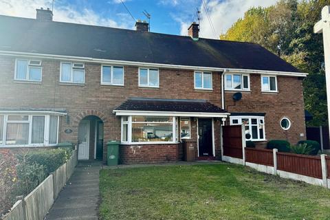
[[[25,164],[39,164],[44,166],[45,175],[54,172],[65,163],[68,157],[67,151],[63,149],[29,151],[25,156]],[[18,155],[19,161],[23,160],[23,155]]]

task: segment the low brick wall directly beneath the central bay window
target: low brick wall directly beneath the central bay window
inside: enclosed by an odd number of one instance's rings
[[[181,144],[120,145],[122,164],[173,162],[179,160]]]

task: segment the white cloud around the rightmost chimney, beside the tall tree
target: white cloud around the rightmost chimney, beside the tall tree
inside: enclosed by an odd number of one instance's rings
[[[210,19],[214,25],[216,34],[212,32],[206,11],[200,5],[201,21],[199,35],[204,38],[219,39],[219,34],[226,32],[237,19],[244,16],[244,13],[253,6],[267,7],[274,5],[277,0],[211,0],[205,1]],[[181,25],[180,33],[186,36],[187,27],[192,21],[179,21]]]

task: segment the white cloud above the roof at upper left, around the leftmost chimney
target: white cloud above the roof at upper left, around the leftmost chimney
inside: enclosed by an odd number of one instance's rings
[[[36,17],[36,8],[52,8],[50,0],[0,0],[0,14],[14,17]],[[58,1],[54,8],[54,21],[83,23],[87,25],[102,25],[113,28],[133,28],[132,23],[123,16],[114,21],[99,14],[90,8],[76,9],[74,5]]]

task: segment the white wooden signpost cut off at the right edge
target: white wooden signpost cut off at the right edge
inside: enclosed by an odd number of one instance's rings
[[[330,6],[322,8],[322,19],[314,25],[314,33],[323,33],[325,48],[325,78],[327,83],[328,120],[330,127]]]

